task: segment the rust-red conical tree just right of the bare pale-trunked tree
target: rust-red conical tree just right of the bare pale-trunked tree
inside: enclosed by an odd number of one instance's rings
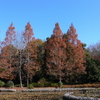
[[[26,64],[24,70],[26,72],[27,79],[27,87],[29,84],[29,79],[35,74],[35,71],[38,68],[38,64],[36,62],[37,59],[37,47],[35,44],[35,38],[33,37],[33,29],[31,28],[31,24],[27,23],[25,26],[25,32],[23,33],[24,43],[26,44],[25,55],[26,55]]]

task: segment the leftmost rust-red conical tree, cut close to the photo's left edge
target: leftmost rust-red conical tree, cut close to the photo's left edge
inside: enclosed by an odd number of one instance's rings
[[[2,78],[11,80],[14,78],[13,70],[13,60],[14,60],[14,53],[16,52],[14,47],[14,40],[15,40],[15,27],[13,26],[13,23],[8,27],[8,30],[6,32],[6,38],[4,40],[3,48],[1,50],[1,66],[5,68],[5,70],[2,73]]]

